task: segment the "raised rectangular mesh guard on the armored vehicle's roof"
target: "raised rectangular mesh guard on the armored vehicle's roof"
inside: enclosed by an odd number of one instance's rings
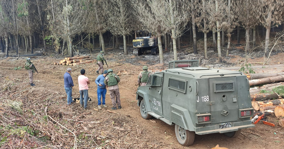
[[[183,60],[169,62],[169,69],[184,68],[184,67],[198,67],[199,60]]]

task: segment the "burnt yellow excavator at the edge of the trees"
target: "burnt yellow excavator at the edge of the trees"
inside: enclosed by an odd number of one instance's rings
[[[144,51],[151,50],[152,55],[158,54],[158,40],[152,36],[151,32],[144,30],[135,31],[135,39],[133,43],[133,54],[141,55]]]

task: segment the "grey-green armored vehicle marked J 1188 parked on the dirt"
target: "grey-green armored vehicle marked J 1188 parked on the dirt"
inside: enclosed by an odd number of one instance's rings
[[[175,125],[181,145],[193,144],[195,133],[237,137],[254,127],[249,80],[238,71],[198,67],[198,60],[172,61],[138,87],[137,105],[144,119]]]

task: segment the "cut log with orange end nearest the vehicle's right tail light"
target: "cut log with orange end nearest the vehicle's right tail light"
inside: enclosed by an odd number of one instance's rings
[[[275,100],[269,100],[269,101],[252,101],[251,104],[252,104],[252,107],[256,111],[258,110],[260,111],[260,108],[264,108],[268,106],[278,106],[278,105],[284,104],[284,99],[275,99]]]

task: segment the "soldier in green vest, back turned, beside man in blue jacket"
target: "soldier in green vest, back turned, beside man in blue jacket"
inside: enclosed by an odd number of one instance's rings
[[[106,87],[109,87],[110,98],[113,106],[111,109],[116,110],[116,103],[118,109],[121,109],[120,93],[118,89],[118,82],[120,82],[120,78],[113,73],[112,69],[108,69],[107,73],[108,75],[105,77],[104,83]]]

